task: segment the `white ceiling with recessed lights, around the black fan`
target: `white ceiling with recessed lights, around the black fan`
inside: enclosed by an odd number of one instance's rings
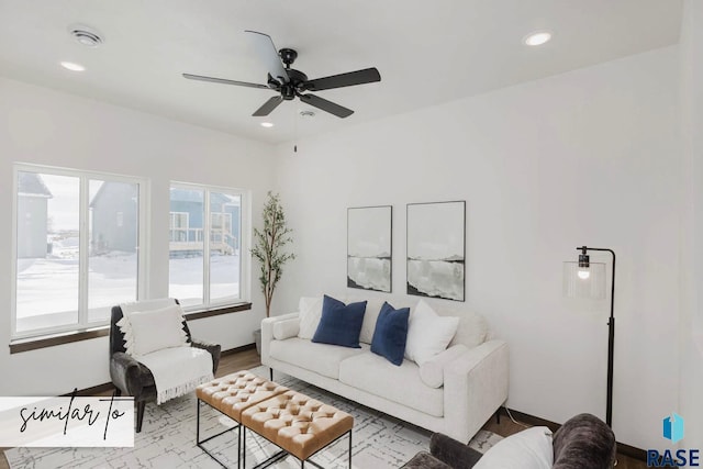
[[[0,75],[278,143],[676,44],[680,20],[680,0],[0,0]],[[78,44],[75,23],[104,44]],[[550,43],[522,44],[544,29]],[[299,100],[253,118],[272,91],[181,77],[265,83],[245,30],[297,49],[310,78],[377,67],[382,81],[316,92],[347,119],[300,118]]]

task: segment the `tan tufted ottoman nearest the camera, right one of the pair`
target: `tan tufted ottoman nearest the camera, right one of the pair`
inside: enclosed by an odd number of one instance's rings
[[[312,455],[348,434],[352,467],[354,417],[299,392],[288,390],[250,405],[242,412],[242,425],[298,458],[301,468]]]

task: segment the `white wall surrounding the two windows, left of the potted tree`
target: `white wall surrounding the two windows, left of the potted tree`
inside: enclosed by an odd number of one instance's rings
[[[168,294],[169,181],[249,189],[259,213],[274,182],[272,153],[267,144],[0,79],[0,217],[12,220],[13,161],[149,178],[152,298]],[[0,265],[14,261],[11,239],[4,223]],[[3,279],[0,304],[9,312],[10,281]],[[192,333],[223,349],[250,344],[265,314],[261,300],[255,286],[253,311],[192,321]],[[0,344],[9,342],[4,314]],[[14,355],[0,347],[0,395],[54,395],[109,382],[108,338]]]

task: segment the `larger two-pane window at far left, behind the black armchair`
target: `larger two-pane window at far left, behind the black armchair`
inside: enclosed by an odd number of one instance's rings
[[[15,167],[13,338],[107,324],[145,276],[137,178]]]

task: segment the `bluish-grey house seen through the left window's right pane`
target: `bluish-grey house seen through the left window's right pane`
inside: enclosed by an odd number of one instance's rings
[[[137,186],[107,181],[90,201],[91,253],[110,250],[136,252],[137,246]]]

